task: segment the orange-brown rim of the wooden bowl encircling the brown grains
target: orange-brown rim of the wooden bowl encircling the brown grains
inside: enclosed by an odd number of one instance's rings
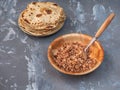
[[[82,34],[82,33],[70,33],[70,34],[61,35],[61,36],[57,37],[56,39],[54,39],[54,40],[51,42],[51,44],[49,45],[49,47],[48,47],[48,53],[47,53],[48,61],[49,61],[49,63],[50,63],[57,71],[59,71],[59,72],[61,72],[61,73],[68,74],[68,75],[85,75],[85,74],[91,73],[91,72],[93,72],[94,70],[96,70],[96,69],[101,65],[101,63],[103,62],[103,59],[104,59],[104,49],[103,49],[102,45],[100,44],[100,42],[99,42],[98,40],[96,40],[95,42],[96,42],[96,44],[97,44],[97,45],[100,47],[100,49],[101,49],[101,52],[102,52],[101,57],[102,57],[102,58],[101,58],[100,62],[98,62],[98,64],[97,64],[95,67],[93,67],[92,69],[90,69],[90,70],[88,70],[88,71],[81,72],[81,73],[79,73],[79,72],[77,72],[77,73],[66,72],[66,71],[60,69],[57,65],[55,65],[55,64],[53,63],[53,59],[52,59],[51,56],[50,56],[51,48],[52,48],[52,46],[54,45],[54,42],[57,42],[57,41],[59,41],[60,39],[65,38],[65,37],[75,36],[75,35],[76,35],[76,36],[83,35],[83,36],[85,36],[85,37],[87,37],[87,38],[91,38],[91,39],[92,39],[92,36],[89,36],[89,35],[87,35],[87,34]]]

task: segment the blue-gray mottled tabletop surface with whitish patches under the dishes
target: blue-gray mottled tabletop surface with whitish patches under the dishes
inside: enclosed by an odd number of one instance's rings
[[[64,8],[67,20],[56,34],[37,38],[17,25],[20,12],[31,1],[0,0],[0,90],[120,90],[120,1],[49,1]],[[94,35],[110,12],[116,17],[99,39],[105,50],[102,65],[85,76],[68,76],[53,69],[47,60],[50,42],[72,32]]]

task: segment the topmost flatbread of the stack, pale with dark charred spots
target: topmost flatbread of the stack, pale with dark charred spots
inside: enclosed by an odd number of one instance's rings
[[[52,2],[32,2],[22,13],[21,17],[33,29],[49,30],[65,21],[63,9]]]

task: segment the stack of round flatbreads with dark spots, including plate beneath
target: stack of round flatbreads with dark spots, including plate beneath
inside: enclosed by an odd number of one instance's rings
[[[25,33],[33,36],[51,35],[64,25],[63,8],[53,2],[32,2],[21,12],[18,24]]]

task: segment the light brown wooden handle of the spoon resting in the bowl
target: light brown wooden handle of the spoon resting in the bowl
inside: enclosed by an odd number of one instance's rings
[[[98,29],[97,33],[95,34],[95,37],[98,38],[108,27],[112,19],[114,18],[115,14],[111,13],[107,19],[104,21],[104,23],[101,25],[101,27]]]

